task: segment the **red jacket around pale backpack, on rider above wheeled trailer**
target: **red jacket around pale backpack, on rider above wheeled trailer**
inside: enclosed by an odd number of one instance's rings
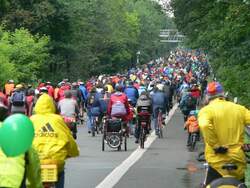
[[[128,97],[124,93],[115,92],[114,94],[111,95],[108,104],[107,114],[111,116],[112,105],[115,104],[117,101],[120,101],[125,105],[127,115],[121,118],[123,119],[123,121],[127,121],[127,116],[130,114],[130,108],[129,108]]]

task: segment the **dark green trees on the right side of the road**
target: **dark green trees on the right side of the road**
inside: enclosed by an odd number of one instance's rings
[[[187,45],[205,49],[225,88],[250,106],[249,2],[173,0],[172,7]]]

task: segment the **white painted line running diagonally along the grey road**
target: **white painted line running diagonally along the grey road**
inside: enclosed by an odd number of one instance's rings
[[[166,118],[166,125],[173,117],[178,104],[175,104],[172,110],[169,112],[168,117]],[[114,187],[119,180],[124,176],[124,174],[143,156],[143,154],[148,150],[151,144],[155,141],[157,136],[155,131],[153,131],[150,136],[148,136],[147,141],[145,142],[145,148],[141,149],[138,147],[130,156],[125,159],[119,166],[117,166],[106,178],[96,186],[96,188],[112,188]]]

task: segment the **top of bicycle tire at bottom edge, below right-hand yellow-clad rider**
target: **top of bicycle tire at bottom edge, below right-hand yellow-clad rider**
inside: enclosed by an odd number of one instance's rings
[[[237,188],[247,188],[247,186],[243,182],[233,177],[223,177],[216,179],[212,181],[212,183],[210,183],[210,188],[219,188],[220,186],[226,186],[226,185],[235,186]]]

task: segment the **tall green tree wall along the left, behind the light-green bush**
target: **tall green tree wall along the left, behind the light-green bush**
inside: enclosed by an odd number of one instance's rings
[[[162,56],[172,46],[160,43],[159,30],[174,27],[151,0],[0,0],[0,21],[49,36],[50,58],[39,71],[52,81],[120,71],[136,63],[138,50],[141,63]]]

